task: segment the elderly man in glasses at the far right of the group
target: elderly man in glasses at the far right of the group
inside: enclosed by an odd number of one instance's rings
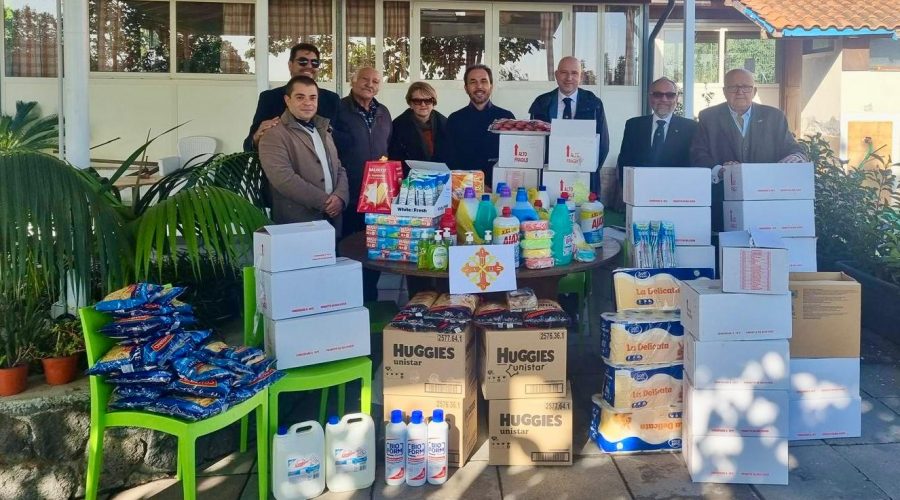
[[[725,103],[700,112],[691,144],[691,163],[713,167],[714,231],[722,230],[722,184],[725,169],[738,163],[801,163],[808,161],[778,108],[753,102],[753,73],[733,69],[725,73]]]

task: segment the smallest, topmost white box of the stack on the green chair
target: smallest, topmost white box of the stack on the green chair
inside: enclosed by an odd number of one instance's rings
[[[253,233],[253,265],[277,273],[331,266],[337,258],[334,227],[326,221],[265,226]]]

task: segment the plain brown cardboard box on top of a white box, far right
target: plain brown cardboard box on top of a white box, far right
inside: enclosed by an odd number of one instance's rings
[[[844,273],[791,273],[792,358],[858,358],[859,283]]]

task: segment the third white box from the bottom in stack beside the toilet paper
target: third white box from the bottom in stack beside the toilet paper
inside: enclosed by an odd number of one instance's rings
[[[787,340],[684,339],[684,375],[696,389],[788,390]]]

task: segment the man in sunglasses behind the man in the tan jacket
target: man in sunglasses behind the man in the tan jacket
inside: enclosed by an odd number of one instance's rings
[[[319,58],[319,49],[309,43],[298,43],[291,48],[291,58],[288,60],[288,71],[291,78],[295,76],[307,76],[316,79],[322,60]],[[253,115],[253,123],[250,125],[250,133],[244,139],[244,151],[254,151],[259,146],[259,139],[272,127],[277,127],[284,113],[284,87],[269,89],[259,94],[259,102],[256,104],[256,114]],[[334,92],[319,88],[319,110],[317,114],[323,118],[334,120],[337,114],[340,97]]]

